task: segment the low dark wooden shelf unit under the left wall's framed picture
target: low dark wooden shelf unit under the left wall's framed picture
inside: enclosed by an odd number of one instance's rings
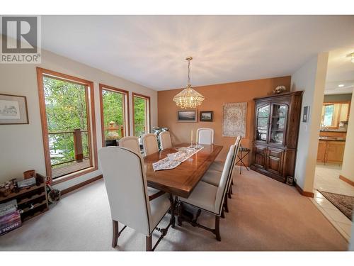
[[[45,177],[37,174],[37,184],[28,189],[21,189],[7,196],[0,196],[0,204],[16,199],[18,210],[21,211],[21,221],[27,221],[48,210],[47,187]]]

